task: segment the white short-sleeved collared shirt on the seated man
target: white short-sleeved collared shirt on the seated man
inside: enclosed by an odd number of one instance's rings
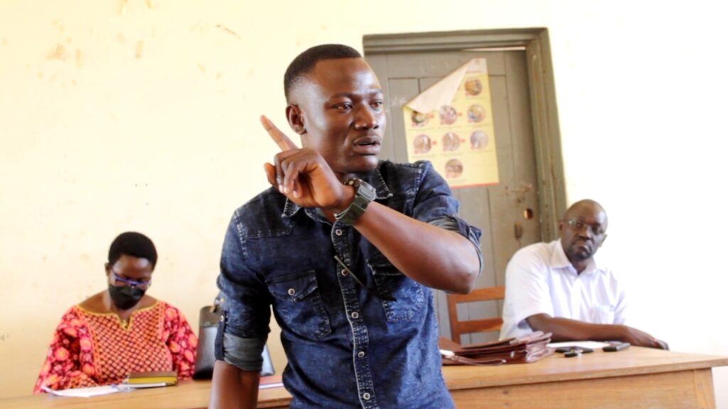
[[[501,338],[533,332],[526,318],[535,314],[593,324],[623,324],[625,289],[611,270],[592,258],[582,274],[571,266],[561,241],[518,250],[505,273]]]

